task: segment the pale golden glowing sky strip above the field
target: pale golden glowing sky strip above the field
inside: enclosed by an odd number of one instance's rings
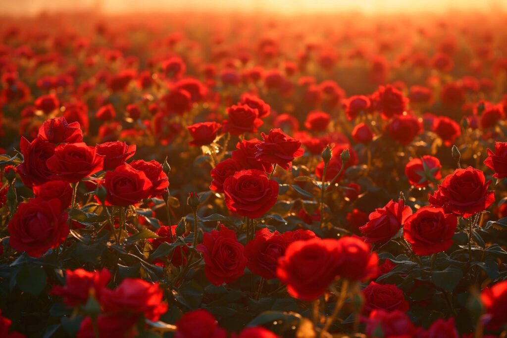
[[[55,12],[237,11],[301,14],[357,11],[365,14],[396,12],[502,11],[507,0],[0,0],[1,15],[38,15]]]

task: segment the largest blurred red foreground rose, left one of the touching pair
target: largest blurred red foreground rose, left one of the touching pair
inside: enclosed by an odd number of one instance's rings
[[[344,259],[335,239],[296,241],[278,259],[276,275],[291,296],[313,301],[328,290]]]

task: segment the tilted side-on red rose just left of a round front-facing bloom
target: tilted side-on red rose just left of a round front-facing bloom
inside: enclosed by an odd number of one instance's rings
[[[370,213],[368,223],[359,230],[369,243],[386,242],[402,228],[403,223],[411,214],[412,209],[406,206],[402,199],[397,202],[391,200],[385,207],[375,209]]]

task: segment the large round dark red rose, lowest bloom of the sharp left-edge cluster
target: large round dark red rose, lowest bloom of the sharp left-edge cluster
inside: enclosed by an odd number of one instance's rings
[[[11,235],[9,245],[13,249],[40,257],[67,238],[67,213],[62,211],[57,199],[32,198],[18,205],[8,229]]]

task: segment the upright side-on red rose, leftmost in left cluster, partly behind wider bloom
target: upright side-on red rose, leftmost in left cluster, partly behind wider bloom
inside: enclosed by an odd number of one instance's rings
[[[23,163],[16,167],[16,172],[27,187],[40,185],[51,180],[53,172],[48,168],[47,161],[55,153],[53,143],[39,138],[29,142],[21,137],[19,142]]]

